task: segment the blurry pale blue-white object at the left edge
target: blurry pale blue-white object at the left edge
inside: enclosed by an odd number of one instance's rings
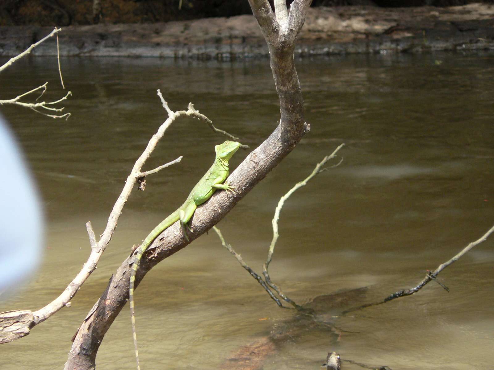
[[[0,293],[40,262],[43,216],[23,155],[0,115]]]

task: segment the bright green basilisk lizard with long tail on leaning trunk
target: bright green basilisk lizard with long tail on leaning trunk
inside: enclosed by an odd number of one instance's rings
[[[139,261],[141,260],[142,254],[146,251],[149,245],[160,235],[166,228],[171,226],[176,221],[180,221],[183,228],[184,225],[189,222],[194,215],[194,211],[197,206],[203,204],[208,200],[211,195],[216,191],[216,189],[223,189],[226,191],[233,191],[235,188],[230,186],[228,182],[225,182],[228,177],[228,161],[235,154],[235,152],[240,148],[240,143],[235,141],[225,141],[223,144],[216,145],[214,150],[216,151],[216,157],[214,158],[214,163],[207,170],[206,174],[203,176],[199,183],[197,183],[192,191],[190,192],[187,200],[184,204],[180,206],[175,212],[168,216],[165,220],[160,222],[153,231],[146,236],[146,239],[140,245],[137,254],[135,255],[134,263],[132,264],[132,269],[130,271],[130,284],[129,284],[129,304],[130,304],[130,315],[132,319],[132,333],[134,336],[134,346],[135,346],[135,360],[137,361],[137,370],[139,368],[139,355],[137,353],[137,335],[135,333],[135,311],[134,311],[134,283],[135,283],[135,273],[137,267],[139,266]],[[184,229],[185,231],[185,229]],[[187,237],[187,233],[185,234]]]

